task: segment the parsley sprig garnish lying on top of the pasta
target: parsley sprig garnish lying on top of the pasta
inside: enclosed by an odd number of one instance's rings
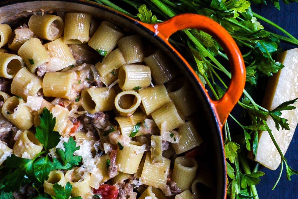
[[[73,153],[80,149],[76,147],[73,137],[68,142],[64,142],[64,148],[56,149],[59,158],[50,158],[49,149],[57,146],[60,141],[59,132],[54,131],[56,118],[46,108],[40,115],[40,126],[36,127],[35,137],[43,145],[43,150],[38,153],[32,160],[20,158],[12,154],[4,161],[0,167],[0,199],[12,199],[13,192],[19,191],[21,186],[32,185],[38,195],[35,198],[53,198],[68,199],[72,191],[72,185],[68,182],[65,187],[55,183],[53,189],[55,196],[41,193],[39,188],[48,180],[49,173],[57,169],[72,169],[81,161],[81,156],[74,156]],[[81,197],[72,197],[80,199]]]

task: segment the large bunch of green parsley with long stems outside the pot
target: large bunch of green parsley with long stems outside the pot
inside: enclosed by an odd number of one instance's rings
[[[230,198],[258,198],[255,184],[259,183],[263,172],[249,167],[246,154],[252,150],[253,157],[257,151],[257,132],[268,131],[282,159],[282,168],[286,167],[287,179],[298,172],[288,166],[285,157],[279,149],[271,129],[266,124],[270,115],[276,128],[289,129],[287,119],[281,117],[282,110],[292,110],[291,106],[297,99],[284,102],[272,111],[258,105],[252,93],[257,87],[260,78],[268,78],[282,69],[284,65],[274,60],[274,55],[279,52],[280,40],[298,45],[298,40],[283,30],[281,27],[253,13],[248,0],[93,0],[104,4],[128,16],[139,19],[145,23],[158,23],[181,13],[196,13],[207,16],[223,26],[238,44],[246,65],[246,89],[238,105],[250,118],[250,124],[244,125],[237,117],[230,117],[243,129],[241,139],[232,140],[228,122],[224,124],[225,154],[227,158],[228,194]],[[278,9],[278,0],[268,0]],[[252,0],[254,3],[266,4],[266,0]],[[284,3],[297,2],[297,0],[283,0]],[[147,8],[148,6],[148,8]],[[286,36],[280,36],[264,30],[257,18],[271,24]],[[181,30],[171,36],[169,40],[177,50],[187,59],[195,69],[201,81],[207,84],[215,99],[224,94],[227,85],[226,78],[231,78],[231,73],[223,66],[222,60],[227,60],[223,49],[214,38],[200,30]],[[247,123],[247,121],[246,121]],[[280,177],[278,178],[278,180]],[[278,182],[277,180],[277,182]],[[275,183],[274,187],[276,186]],[[274,188],[273,187],[273,188]]]

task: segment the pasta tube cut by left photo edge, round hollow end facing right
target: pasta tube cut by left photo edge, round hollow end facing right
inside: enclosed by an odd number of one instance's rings
[[[18,55],[0,52],[0,57],[1,77],[12,79],[24,67],[23,59]]]

